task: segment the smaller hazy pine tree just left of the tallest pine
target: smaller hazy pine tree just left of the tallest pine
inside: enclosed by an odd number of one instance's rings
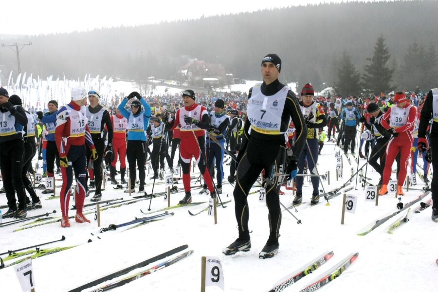
[[[361,92],[360,74],[351,62],[351,56],[344,51],[338,62],[336,92],[343,96],[358,95]]]

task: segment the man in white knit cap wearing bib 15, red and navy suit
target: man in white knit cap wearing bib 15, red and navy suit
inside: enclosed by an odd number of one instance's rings
[[[68,212],[73,169],[77,184],[77,193],[74,197],[76,200],[76,216],[74,219],[78,223],[90,223],[90,220],[82,214],[85,200],[85,142],[91,149],[91,158],[96,160],[98,156],[87,126],[88,121],[84,107],[86,103],[87,91],[83,87],[75,87],[72,90],[72,101],[68,105],[62,106],[56,116],[55,141],[59,151],[61,173],[64,181],[60,191],[62,227],[70,227]]]

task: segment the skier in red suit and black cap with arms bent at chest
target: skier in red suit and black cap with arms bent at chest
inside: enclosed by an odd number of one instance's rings
[[[216,196],[216,193],[210,173],[207,167],[205,167],[205,130],[210,128],[208,111],[205,107],[195,102],[194,91],[186,90],[182,93],[182,97],[184,107],[177,110],[175,119],[169,122],[169,124],[171,126],[170,130],[174,130],[178,125],[181,125],[180,157],[185,196],[180,201],[180,204],[187,204],[192,201],[190,193],[190,162],[192,156],[195,157],[204,182],[207,184],[207,188],[213,198]],[[198,141],[195,140],[195,136]],[[201,147],[201,153],[198,143]]]

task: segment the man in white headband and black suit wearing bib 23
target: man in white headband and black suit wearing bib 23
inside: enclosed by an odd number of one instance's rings
[[[86,107],[87,109],[87,119],[88,128],[90,129],[91,138],[93,140],[94,147],[97,150],[98,158],[96,161],[89,164],[87,168],[92,168],[94,172],[94,182],[96,186],[96,191],[91,201],[100,201],[102,199],[101,186],[102,186],[102,158],[105,149],[105,138],[103,135],[103,130],[107,126],[108,130],[108,146],[105,153],[112,152],[112,123],[110,119],[110,113],[104,107],[99,104],[100,94],[99,91],[91,90],[88,92],[88,100],[90,105]],[[91,158],[91,149],[87,148],[87,163]],[[88,191],[88,175],[85,179],[85,189]]]

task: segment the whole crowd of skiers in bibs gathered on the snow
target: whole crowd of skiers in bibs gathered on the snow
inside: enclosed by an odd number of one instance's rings
[[[180,203],[186,204],[192,200],[192,158],[203,177],[201,192],[208,190],[215,197],[222,191],[226,153],[234,160],[227,179],[236,183],[238,238],[223,252],[231,255],[251,247],[247,196],[262,173],[270,234],[259,256],[266,258],[274,256],[279,247],[279,194],[284,179],[295,180],[293,203],[301,203],[303,174],[308,169],[313,187],[311,204],[319,202],[321,179],[317,163],[326,140],[337,144],[346,155],[350,151],[367,160],[380,174],[380,195],[388,192],[395,160],[398,165],[397,194],[403,195],[409,158],[411,172],[416,175],[419,154],[424,159],[422,178],[429,183],[428,165],[434,162],[437,165],[437,156],[431,151],[438,143],[437,89],[426,96],[421,92],[397,91],[367,97],[363,101],[353,96],[344,99],[318,97],[308,83],[296,96],[278,81],[280,71],[281,59],[275,54],[266,55],[261,61],[263,83],[251,88],[245,96],[246,102],[215,98],[200,104],[194,91],[185,90],[178,102],[171,99],[170,103],[156,102],[151,107],[145,97],[133,91],[116,108],[106,109],[100,104],[98,91],[87,92],[76,87],[69,104],[58,108],[58,103],[52,100],[45,112],[33,114],[22,108],[17,95],[9,96],[0,88],[0,167],[9,208],[3,218],[24,218],[27,210],[41,208],[41,201],[28,178],[37,171],[32,165],[36,154],[43,158],[44,176],[51,178],[56,172],[62,175],[61,226],[69,227],[73,170],[75,221],[82,223],[90,222],[82,214],[82,208],[91,189],[94,191],[91,201],[102,198],[105,164],[110,170],[110,182],[127,184],[127,192],[135,191],[137,183],[138,191],[144,192],[148,156],[153,171],[150,179],[154,182],[163,179],[164,160],[172,172],[174,166],[181,166],[185,194]],[[356,145],[358,132],[360,143]],[[365,155],[362,152],[364,145]],[[177,148],[179,158],[175,162]],[[116,179],[118,173],[119,181]],[[432,219],[438,221],[436,179],[432,180],[431,187]]]

